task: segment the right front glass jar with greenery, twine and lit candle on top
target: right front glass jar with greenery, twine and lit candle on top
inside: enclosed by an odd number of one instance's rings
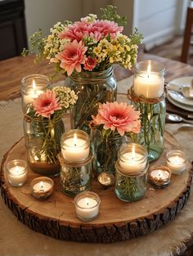
[[[146,147],[136,143],[121,146],[115,168],[115,194],[118,198],[127,202],[140,200],[146,192]]]

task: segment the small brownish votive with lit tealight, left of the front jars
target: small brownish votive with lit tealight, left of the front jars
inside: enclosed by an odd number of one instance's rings
[[[38,200],[46,200],[53,193],[54,182],[49,177],[36,177],[30,183],[31,195]]]

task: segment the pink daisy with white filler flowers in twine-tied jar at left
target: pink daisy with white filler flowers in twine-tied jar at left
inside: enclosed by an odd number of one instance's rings
[[[61,117],[76,103],[77,99],[77,95],[70,88],[56,86],[47,89],[29,103],[25,120],[31,123],[33,129],[34,137],[28,139],[29,143],[35,145],[35,160],[40,159],[49,164],[57,162],[57,154],[60,152],[60,134],[64,132]],[[57,124],[62,124],[62,127]]]

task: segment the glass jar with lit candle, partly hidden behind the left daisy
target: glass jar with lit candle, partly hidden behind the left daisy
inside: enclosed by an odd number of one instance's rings
[[[43,74],[29,74],[21,79],[21,106],[24,113],[27,112],[27,106],[34,101],[34,98],[46,91],[49,83],[49,78]]]

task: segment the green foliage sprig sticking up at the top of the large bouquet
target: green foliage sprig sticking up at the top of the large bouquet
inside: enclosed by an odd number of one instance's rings
[[[117,7],[113,7],[111,5],[108,5],[105,8],[100,8],[101,10],[101,18],[103,20],[110,20],[116,22],[118,25],[123,26],[127,25],[127,17],[126,16],[119,16],[117,13]]]

